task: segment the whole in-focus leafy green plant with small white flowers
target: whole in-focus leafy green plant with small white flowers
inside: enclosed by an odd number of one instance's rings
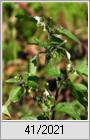
[[[71,62],[71,55],[66,48],[67,42],[62,38],[65,36],[67,40],[71,39],[79,45],[80,41],[67,29],[56,26],[52,18],[30,17],[25,14],[17,15],[18,22],[24,22],[25,20],[28,20],[31,25],[37,24],[37,28],[39,26],[42,27],[43,30],[47,32],[48,38],[45,42],[41,42],[41,40],[37,39],[36,42],[33,43],[37,43],[39,47],[45,48],[45,51],[39,52],[34,57],[27,58],[27,71],[6,81],[9,84],[14,84],[9,94],[8,100],[10,103],[7,106],[9,106],[11,102],[14,104],[19,102],[23,96],[30,96],[36,101],[41,112],[37,117],[33,115],[35,113],[33,112],[32,115],[22,116],[21,119],[55,119],[55,112],[58,112],[68,114],[72,119],[80,120],[82,111],[85,112],[85,109],[87,110],[87,86],[81,83],[74,83],[74,80],[71,80],[72,78],[70,79],[70,74],[76,74],[76,77],[82,75],[87,77],[87,66],[75,69]],[[25,24],[22,26],[24,26],[24,28],[26,27]],[[30,29],[27,30],[27,32],[30,33]],[[27,32],[25,37],[28,36]],[[41,67],[39,66],[40,54],[44,54],[46,58],[45,64]],[[65,60],[66,66],[62,66],[64,67],[63,69],[60,63]],[[54,81],[53,86],[55,87],[53,90],[50,88],[50,80]],[[74,101],[58,101],[58,96],[64,88],[71,89]],[[27,94],[29,91],[31,95]],[[7,108],[4,108],[3,113],[9,115]]]

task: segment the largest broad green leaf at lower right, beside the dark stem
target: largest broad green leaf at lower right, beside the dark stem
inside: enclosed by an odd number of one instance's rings
[[[72,103],[64,102],[64,103],[58,103],[56,104],[54,110],[56,112],[63,112],[68,115],[70,115],[75,120],[80,120],[80,114],[78,113],[78,108],[75,108],[75,105],[81,107],[80,103],[78,101],[74,101]]]

